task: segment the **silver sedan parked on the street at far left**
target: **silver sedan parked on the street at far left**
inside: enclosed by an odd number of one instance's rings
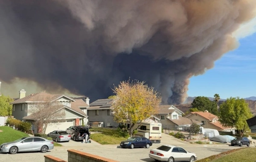
[[[32,152],[41,151],[46,153],[47,150],[53,149],[53,141],[42,137],[23,137],[14,142],[7,142],[0,145],[0,153]]]

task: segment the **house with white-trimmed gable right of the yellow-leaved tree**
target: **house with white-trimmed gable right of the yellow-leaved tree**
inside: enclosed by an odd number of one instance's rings
[[[158,113],[155,115],[160,119],[164,129],[183,130],[184,127],[189,127],[193,122],[201,124],[201,122],[182,117],[184,114],[173,105],[159,105]]]

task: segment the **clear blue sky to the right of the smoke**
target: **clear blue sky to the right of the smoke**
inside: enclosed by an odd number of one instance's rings
[[[239,48],[226,53],[204,75],[190,79],[189,96],[247,98],[256,96],[256,33],[239,40]]]

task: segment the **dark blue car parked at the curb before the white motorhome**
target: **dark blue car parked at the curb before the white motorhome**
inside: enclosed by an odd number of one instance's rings
[[[152,146],[151,140],[145,138],[145,137],[131,137],[127,139],[126,141],[122,141],[120,143],[121,148],[149,148]]]

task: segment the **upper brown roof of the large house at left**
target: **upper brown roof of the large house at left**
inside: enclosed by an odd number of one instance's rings
[[[11,102],[10,104],[21,104],[21,103],[28,103],[28,102],[36,102],[36,100],[40,99],[40,98],[49,98],[49,100],[51,101],[55,101],[61,97],[66,97],[68,99],[70,99],[71,101],[75,101],[74,99],[67,97],[65,95],[52,95],[50,93],[46,93],[46,92],[39,92],[39,93],[34,93],[34,94],[30,94],[27,95],[23,98],[19,98],[13,102]]]

